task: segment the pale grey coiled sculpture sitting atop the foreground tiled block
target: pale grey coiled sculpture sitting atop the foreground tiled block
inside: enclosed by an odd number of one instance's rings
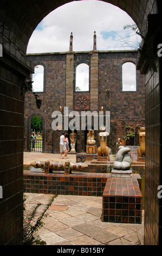
[[[130,149],[128,147],[119,147],[119,151],[115,156],[113,166],[117,170],[128,170],[131,167],[131,157],[128,152]]]

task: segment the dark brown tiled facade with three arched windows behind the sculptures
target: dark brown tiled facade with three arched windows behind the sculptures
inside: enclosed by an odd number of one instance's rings
[[[30,123],[33,115],[40,115],[44,121],[43,151],[46,153],[60,153],[60,135],[62,131],[51,129],[53,119],[51,114],[59,111],[62,106],[68,107],[70,111],[110,111],[111,128],[108,136],[108,146],[115,152],[116,139],[125,136],[119,129],[119,119],[128,120],[129,123],[145,126],[145,89],[144,76],[137,70],[137,90],[135,92],[122,91],[122,64],[125,62],[137,63],[136,51],[91,51],[91,52],[63,52],[28,54],[30,60],[35,64],[44,66],[44,90],[38,93],[42,99],[40,110],[36,108],[33,94],[25,96],[24,114],[24,150],[29,151]],[[76,66],[80,63],[89,65],[89,92],[75,92]],[[107,93],[107,89],[109,94]],[[78,96],[84,96],[87,101],[85,109],[76,106]],[[69,118],[72,120],[73,118]],[[126,124],[126,122],[124,122]],[[93,118],[92,118],[93,126]],[[63,123],[64,127],[64,123]],[[99,127],[99,124],[98,124]],[[66,131],[68,134],[70,130]],[[77,153],[85,152],[86,131],[76,131]],[[98,130],[95,130],[96,144],[99,145]]]

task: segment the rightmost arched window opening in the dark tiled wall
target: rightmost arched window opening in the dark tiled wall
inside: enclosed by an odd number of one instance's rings
[[[126,62],[122,65],[122,91],[136,90],[136,66],[132,62]]]

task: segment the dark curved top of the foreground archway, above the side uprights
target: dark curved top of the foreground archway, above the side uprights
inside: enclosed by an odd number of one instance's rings
[[[51,11],[63,4],[73,2],[66,0],[1,0],[0,43],[9,52],[16,46],[26,53],[28,41],[34,29]],[[79,0],[76,0],[79,1]],[[140,31],[147,29],[147,15],[156,13],[156,0],[105,0],[126,11],[139,27]],[[70,15],[70,13],[69,13]],[[2,27],[2,26],[5,26]]]

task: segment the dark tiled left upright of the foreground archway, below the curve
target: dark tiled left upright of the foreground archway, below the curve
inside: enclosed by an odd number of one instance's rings
[[[22,77],[0,66],[0,245],[22,245],[23,109]]]

